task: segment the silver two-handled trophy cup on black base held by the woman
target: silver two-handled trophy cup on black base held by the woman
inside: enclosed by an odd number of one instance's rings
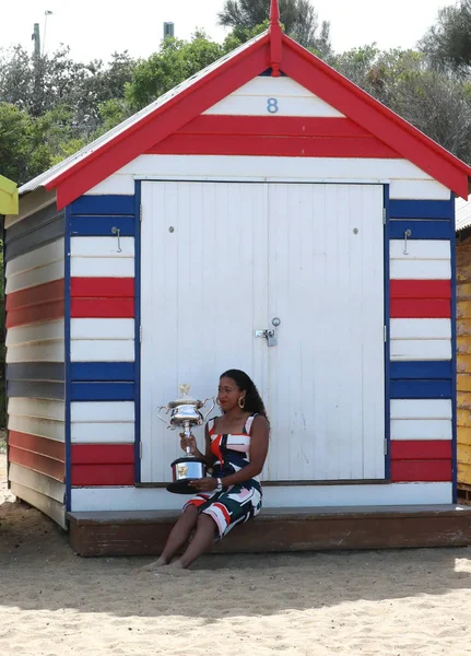
[[[192,426],[200,426],[207,421],[209,414],[213,411],[215,402],[213,398],[204,399],[204,401],[198,401],[188,396],[190,390],[189,385],[180,385],[180,398],[170,401],[167,406],[161,406],[157,408],[157,417],[163,421],[167,429],[175,431],[175,429],[184,429],[187,437],[191,435]],[[203,408],[208,401],[212,402],[210,410],[203,415],[200,409]],[[170,413],[169,419],[161,417],[161,412],[165,410],[165,413]],[[190,447],[187,446],[187,455],[182,458],[178,458],[172,462],[173,481],[167,485],[168,492],[174,494],[195,494],[196,490],[189,485],[189,481],[193,481],[199,478],[207,476],[207,466],[204,460],[197,458],[190,453]]]

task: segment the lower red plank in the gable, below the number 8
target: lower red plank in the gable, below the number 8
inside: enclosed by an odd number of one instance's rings
[[[254,137],[172,134],[145,151],[161,155],[251,155],[275,157],[398,157],[378,139],[344,137]]]

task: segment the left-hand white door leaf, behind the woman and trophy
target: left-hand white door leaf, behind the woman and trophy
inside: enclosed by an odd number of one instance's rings
[[[266,393],[267,347],[254,326],[268,314],[264,185],[143,183],[141,227],[141,480],[170,480],[179,437],[156,408],[216,396],[240,368]],[[203,448],[203,430],[196,429]]]

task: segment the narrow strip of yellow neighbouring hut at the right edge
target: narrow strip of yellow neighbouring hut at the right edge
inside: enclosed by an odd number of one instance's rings
[[[471,501],[471,202],[457,201],[458,496]]]

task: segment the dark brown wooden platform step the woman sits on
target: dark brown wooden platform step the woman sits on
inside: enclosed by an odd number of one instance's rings
[[[156,555],[175,512],[70,513],[70,543],[84,557]],[[237,526],[214,552],[401,549],[471,544],[471,507],[270,508]]]

